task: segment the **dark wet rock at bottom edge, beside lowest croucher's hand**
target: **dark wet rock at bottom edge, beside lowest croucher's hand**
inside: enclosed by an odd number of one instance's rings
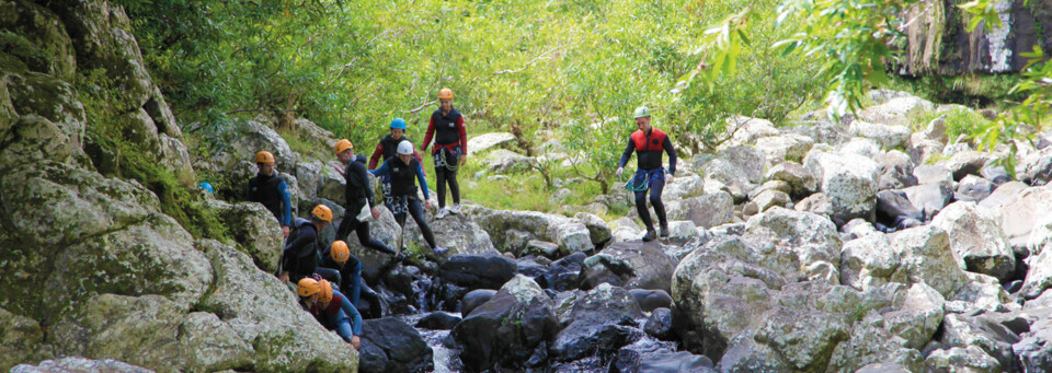
[[[434,369],[434,351],[412,326],[386,317],[362,324],[362,372],[420,372]]]

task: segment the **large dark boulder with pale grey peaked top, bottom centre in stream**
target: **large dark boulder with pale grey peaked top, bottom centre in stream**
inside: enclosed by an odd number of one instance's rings
[[[551,299],[519,275],[471,311],[450,335],[464,346],[460,360],[469,370],[523,370],[546,363],[548,343],[560,329]]]

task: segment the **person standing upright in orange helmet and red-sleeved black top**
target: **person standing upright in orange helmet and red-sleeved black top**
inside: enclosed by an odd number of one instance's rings
[[[435,179],[438,183],[438,214],[435,219],[442,219],[449,213],[460,213],[457,170],[468,161],[468,136],[464,129],[464,117],[453,107],[450,89],[438,91],[438,109],[431,114],[431,124],[427,125],[421,150],[427,150],[432,136],[435,138],[435,147],[432,148],[431,155],[435,159]],[[449,191],[453,193],[453,209],[446,209],[446,183],[449,183]]]

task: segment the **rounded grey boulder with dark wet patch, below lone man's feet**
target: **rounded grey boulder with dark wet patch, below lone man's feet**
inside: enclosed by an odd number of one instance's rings
[[[630,289],[668,291],[675,268],[676,259],[665,254],[656,241],[617,243],[584,260],[580,285],[588,290],[609,282]]]

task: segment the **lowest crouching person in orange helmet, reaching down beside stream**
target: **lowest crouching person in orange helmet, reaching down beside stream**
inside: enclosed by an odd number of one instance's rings
[[[362,315],[329,281],[306,277],[296,284],[296,293],[325,329],[334,330],[355,350],[362,348]]]

